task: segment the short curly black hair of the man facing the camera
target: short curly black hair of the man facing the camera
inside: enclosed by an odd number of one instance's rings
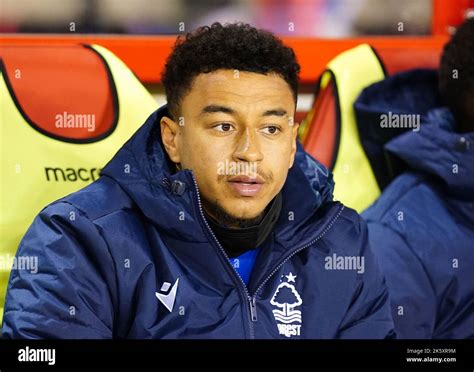
[[[170,114],[179,116],[181,101],[197,75],[220,69],[278,74],[296,102],[300,66],[293,49],[249,24],[216,22],[176,40],[161,76]]]

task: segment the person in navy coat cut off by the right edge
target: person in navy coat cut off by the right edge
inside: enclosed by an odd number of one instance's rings
[[[400,338],[474,338],[473,50],[471,19],[446,44],[438,72],[393,76],[355,104],[374,124],[384,110],[418,118],[385,145],[408,170],[364,212]]]

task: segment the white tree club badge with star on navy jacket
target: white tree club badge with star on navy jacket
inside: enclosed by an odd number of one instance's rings
[[[280,283],[270,300],[270,304],[276,307],[272,310],[273,316],[280,335],[285,337],[300,336],[303,320],[301,310],[298,310],[297,307],[303,304],[303,300],[295,288],[297,276],[290,272],[282,277],[286,278],[286,281]]]

